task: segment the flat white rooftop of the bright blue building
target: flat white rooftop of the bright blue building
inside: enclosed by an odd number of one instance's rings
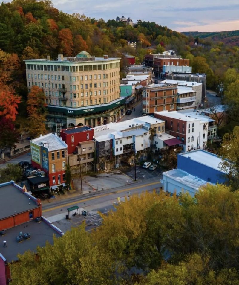
[[[198,163],[224,172],[219,167],[219,164],[222,162],[222,159],[214,153],[209,153],[206,150],[194,150],[187,153],[179,153],[178,155],[190,158],[193,161],[197,161]]]

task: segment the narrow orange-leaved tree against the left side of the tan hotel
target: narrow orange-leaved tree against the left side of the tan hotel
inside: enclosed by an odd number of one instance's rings
[[[36,138],[46,132],[46,97],[41,88],[32,86],[27,97],[27,113],[29,115],[29,134],[31,138]]]

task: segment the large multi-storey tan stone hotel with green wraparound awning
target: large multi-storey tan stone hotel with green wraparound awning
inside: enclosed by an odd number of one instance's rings
[[[85,51],[58,60],[25,60],[27,86],[42,88],[48,127],[58,132],[74,126],[117,121],[124,109],[120,97],[120,58],[94,57]]]

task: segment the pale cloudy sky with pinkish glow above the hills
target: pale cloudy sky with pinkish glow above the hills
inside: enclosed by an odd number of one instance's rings
[[[178,32],[239,30],[238,0],[52,0],[65,13],[89,18],[115,19],[117,16],[156,22]]]

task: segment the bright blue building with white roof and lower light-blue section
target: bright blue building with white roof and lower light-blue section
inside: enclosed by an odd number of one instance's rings
[[[189,192],[191,196],[207,183],[224,183],[225,173],[220,169],[221,158],[205,150],[179,153],[177,169],[163,173],[163,190],[178,195]]]

